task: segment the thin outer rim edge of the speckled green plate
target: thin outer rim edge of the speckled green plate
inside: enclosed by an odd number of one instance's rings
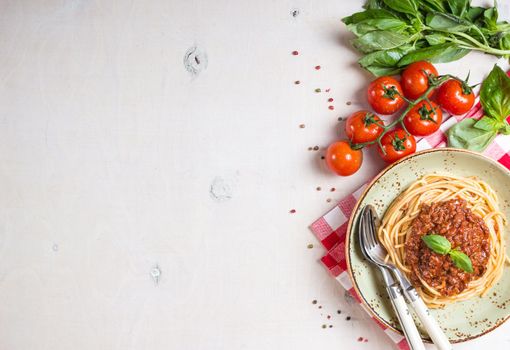
[[[354,217],[356,216],[356,213],[357,211],[359,210],[359,206],[361,204],[361,202],[363,201],[363,199],[366,197],[368,191],[370,191],[370,189],[372,188],[372,186],[375,184],[375,182],[377,180],[379,180],[384,174],[386,174],[388,171],[390,171],[391,169],[393,169],[396,165],[400,164],[400,163],[403,163],[404,161],[406,161],[407,159],[411,159],[411,158],[414,158],[414,157],[417,157],[417,156],[421,156],[423,154],[428,154],[428,153],[436,153],[436,152],[458,152],[458,153],[467,153],[467,154],[470,154],[472,156],[475,156],[475,157],[478,157],[478,158],[483,158],[485,159],[486,161],[488,161],[489,163],[492,163],[493,165],[495,165],[496,167],[502,169],[504,172],[508,173],[510,175],[510,170],[507,169],[506,167],[504,167],[502,164],[500,164],[499,162],[495,161],[494,159],[492,158],[489,158],[485,155],[483,155],[482,153],[478,153],[478,152],[474,152],[474,151],[470,151],[470,150],[466,150],[466,149],[460,149],[460,148],[452,148],[452,147],[442,147],[442,148],[432,148],[432,149],[427,149],[427,150],[423,150],[423,151],[419,151],[419,152],[416,152],[416,153],[413,153],[413,154],[410,154],[402,159],[399,159],[398,161],[396,161],[395,163],[392,163],[390,164],[389,166],[387,166],[386,168],[384,168],[383,170],[381,170],[367,185],[367,187],[363,190],[363,192],[361,193],[360,197],[358,198],[358,200],[356,201],[356,205],[354,206],[352,212],[351,212],[351,215],[350,215],[350,218],[349,218],[349,222],[347,224],[347,234],[346,234],[346,238],[345,238],[345,260],[346,260],[346,265],[347,265],[347,273],[349,275],[349,279],[351,280],[351,284],[354,288],[354,290],[356,291],[356,293],[358,294],[362,304],[364,304],[364,306],[366,306],[366,309],[368,310],[368,312],[370,313],[370,315],[372,317],[374,317],[378,322],[380,322],[381,324],[383,324],[385,327],[393,330],[394,332],[397,332],[398,334],[404,336],[404,333],[395,328],[392,324],[390,324],[389,322],[387,322],[384,318],[382,318],[381,316],[379,316],[379,314],[377,312],[375,312],[375,310],[372,309],[372,307],[370,306],[370,304],[368,303],[368,301],[365,299],[365,297],[363,296],[363,294],[361,294],[361,291],[360,289],[358,288],[358,284],[356,282],[356,278],[354,277],[353,273],[352,273],[352,268],[351,268],[351,257],[350,257],[350,243],[351,243],[351,233],[352,233],[352,229],[353,229],[353,221],[354,221]],[[508,313],[508,315],[500,320],[500,322],[496,323],[494,326],[492,326],[491,328],[488,328],[486,329],[485,331],[479,333],[479,334],[476,334],[476,335],[472,335],[472,336],[468,336],[468,337],[465,337],[465,338],[461,338],[461,339],[455,339],[455,340],[450,340],[450,342],[452,343],[463,343],[463,342],[466,342],[466,341],[469,341],[469,340],[473,340],[473,339],[476,339],[476,338],[479,338],[483,335],[486,335],[490,332],[492,332],[493,330],[495,330],[496,328],[498,328],[499,326],[501,326],[502,324],[504,324],[508,319],[510,318],[510,312]],[[422,339],[427,341],[427,342],[431,342],[430,341],[430,338],[425,338],[422,336]]]

